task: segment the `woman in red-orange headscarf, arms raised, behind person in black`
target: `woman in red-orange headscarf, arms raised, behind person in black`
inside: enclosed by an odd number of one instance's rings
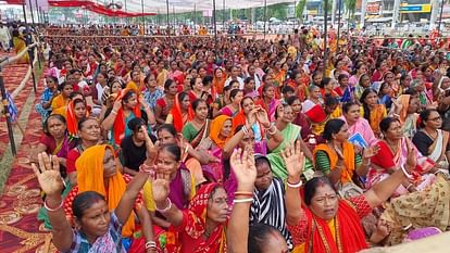
[[[132,135],[127,124],[135,117],[143,118],[149,125],[154,124],[153,113],[143,98],[138,98],[136,91],[132,89],[123,89],[101,124],[104,130],[111,130],[111,143],[118,147],[125,137]]]

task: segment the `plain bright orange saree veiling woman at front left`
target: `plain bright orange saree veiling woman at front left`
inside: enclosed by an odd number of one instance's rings
[[[114,176],[108,178],[108,189],[104,187],[103,178],[103,157],[105,150],[109,149],[114,154],[111,146],[93,146],[85,150],[77,159],[75,166],[77,169],[78,192],[96,191],[105,197],[108,208],[110,211],[117,207],[126,190],[126,182],[118,169]],[[122,228],[124,237],[130,237],[135,229],[135,219],[130,215],[126,224]]]

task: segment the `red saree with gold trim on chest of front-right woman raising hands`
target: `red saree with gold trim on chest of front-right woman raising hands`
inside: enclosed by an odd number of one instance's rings
[[[308,217],[305,253],[354,253],[367,248],[360,217],[346,201],[339,200],[338,212],[330,222],[335,231],[309,208],[304,211]]]

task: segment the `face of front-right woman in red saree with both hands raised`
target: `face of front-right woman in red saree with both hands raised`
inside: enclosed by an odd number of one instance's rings
[[[332,220],[338,211],[339,199],[328,185],[320,185],[311,199],[310,210],[324,220]]]

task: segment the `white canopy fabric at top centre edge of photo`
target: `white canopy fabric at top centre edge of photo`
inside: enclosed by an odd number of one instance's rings
[[[154,12],[158,14],[167,13],[166,1],[165,0],[142,0],[143,1],[143,12]],[[296,2],[298,2],[297,0]],[[96,2],[113,2],[112,0],[100,0]],[[114,2],[121,2],[125,11],[125,0],[114,0]],[[295,0],[266,0],[267,5],[290,2],[293,3]],[[223,0],[215,1],[216,10],[222,10],[224,8]],[[225,9],[248,9],[264,7],[264,0],[225,0]],[[168,13],[183,13],[183,12],[192,12],[197,11],[212,11],[213,10],[213,0],[168,0]],[[142,12],[141,0],[126,0],[126,11],[128,12]]]

